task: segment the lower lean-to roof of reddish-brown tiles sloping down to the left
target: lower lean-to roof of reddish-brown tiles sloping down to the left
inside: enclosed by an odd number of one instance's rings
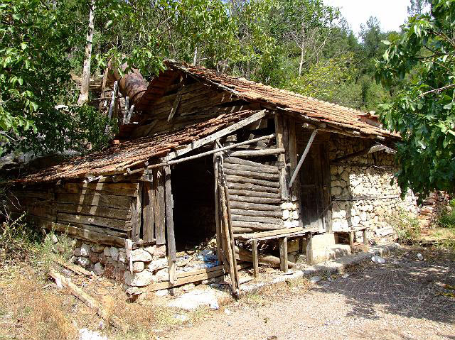
[[[53,182],[99,175],[115,175],[139,167],[150,158],[161,158],[178,146],[185,146],[215,131],[255,114],[257,111],[238,111],[220,114],[178,131],[156,133],[154,136],[121,143],[101,152],[72,158],[64,163],[28,175],[16,182]]]

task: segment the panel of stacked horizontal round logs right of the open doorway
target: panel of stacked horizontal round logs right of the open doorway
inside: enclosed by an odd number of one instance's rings
[[[235,234],[284,228],[277,166],[231,154],[224,160],[223,171]]]

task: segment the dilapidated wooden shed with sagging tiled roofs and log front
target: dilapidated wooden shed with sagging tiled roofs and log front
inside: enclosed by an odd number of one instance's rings
[[[279,242],[287,270],[290,239],[332,231],[331,161],[373,159],[398,138],[360,111],[166,66],[135,92],[114,146],[23,177],[9,197],[12,210],[45,229],[117,248],[105,257],[129,287],[159,290],[229,273],[237,291],[238,268],[270,263],[257,252],[267,240]],[[343,138],[355,150],[336,148]],[[211,235],[218,265],[179,270],[178,252]]]

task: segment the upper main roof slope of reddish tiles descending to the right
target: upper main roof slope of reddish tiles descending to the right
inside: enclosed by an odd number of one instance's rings
[[[365,113],[355,109],[338,104],[323,102],[312,97],[305,97],[301,94],[277,89],[257,82],[252,82],[245,78],[231,77],[221,75],[213,70],[207,70],[203,67],[195,67],[193,65],[181,64],[178,62],[167,61],[166,65],[171,70],[180,70],[186,74],[193,75],[202,81],[210,82],[222,89],[232,92],[237,97],[250,102],[263,102],[274,106],[276,109],[299,114],[309,119],[316,119],[328,124],[334,128],[347,130],[354,133],[360,133],[367,136],[379,136],[397,138],[398,135],[390,133],[379,126],[373,126],[360,120],[360,116]],[[151,83],[151,85],[153,85]],[[147,91],[152,92],[149,86]],[[147,96],[144,95],[144,98]]]

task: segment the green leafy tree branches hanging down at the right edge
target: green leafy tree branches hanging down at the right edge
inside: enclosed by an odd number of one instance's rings
[[[378,62],[382,84],[404,83],[381,119],[401,134],[397,181],[406,192],[454,191],[455,1],[431,1],[431,13],[410,18],[402,36],[391,37]]]

